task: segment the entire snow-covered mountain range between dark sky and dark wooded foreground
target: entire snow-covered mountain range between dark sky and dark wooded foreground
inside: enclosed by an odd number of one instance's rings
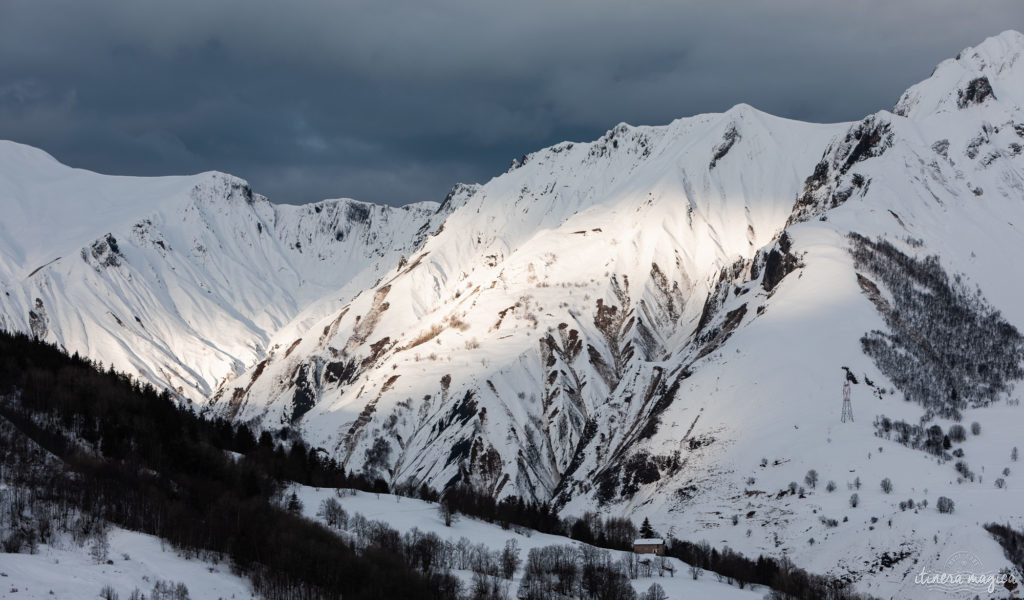
[[[440,207],[273,206],[3,145],[0,326],[391,484],[955,596],[914,575],[1008,566],[981,525],[1024,526],[1022,56],[985,40],[856,123],[618,125]]]

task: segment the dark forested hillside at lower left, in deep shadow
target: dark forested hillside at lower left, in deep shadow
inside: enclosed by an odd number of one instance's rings
[[[225,556],[264,598],[452,597],[452,575],[421,572],[385,545],[356,551],[276,505],[275,473],[347,483],[330,461],[299,443],[286,451],[258,439],[249,455],[231,456],[225,451],[238,452],[238,436],[224,443],[226,430],[166,393],[94,367],[0,333],[0,416],[13,425],[2,430],[0,458],[4,474],[31,490],[22,490],[7,548],[45,542],[60,518],[69,528],[110,522],[159,535],[186,555]],[[47,465],[26,436],[63,465]]]

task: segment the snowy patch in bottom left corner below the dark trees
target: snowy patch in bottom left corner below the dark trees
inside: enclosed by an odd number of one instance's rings
[[[117,527],[110,532],[110,560],[72,543],[40,546],[38,554],[0,554],[0,598],[83,600],[110,586],[123,600],[138,589],[151,596],[157,582],[182,583],[193,600],[252,598],[249,583],[226,564],[185,559],[159,538]]]

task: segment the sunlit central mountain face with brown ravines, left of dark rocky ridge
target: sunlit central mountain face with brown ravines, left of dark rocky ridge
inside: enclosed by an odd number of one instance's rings
[[[845,129],[739,105],[525,157],[222,397],[353,468],[551,498],[588,423],[607,449],[632,441],[721,269],[778,235]]]

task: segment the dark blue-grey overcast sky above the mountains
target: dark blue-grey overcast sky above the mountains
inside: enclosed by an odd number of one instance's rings
[[[1022,0],[0,0],[0,138],[272,201],[440,201],[618,122],[889,109]]]

